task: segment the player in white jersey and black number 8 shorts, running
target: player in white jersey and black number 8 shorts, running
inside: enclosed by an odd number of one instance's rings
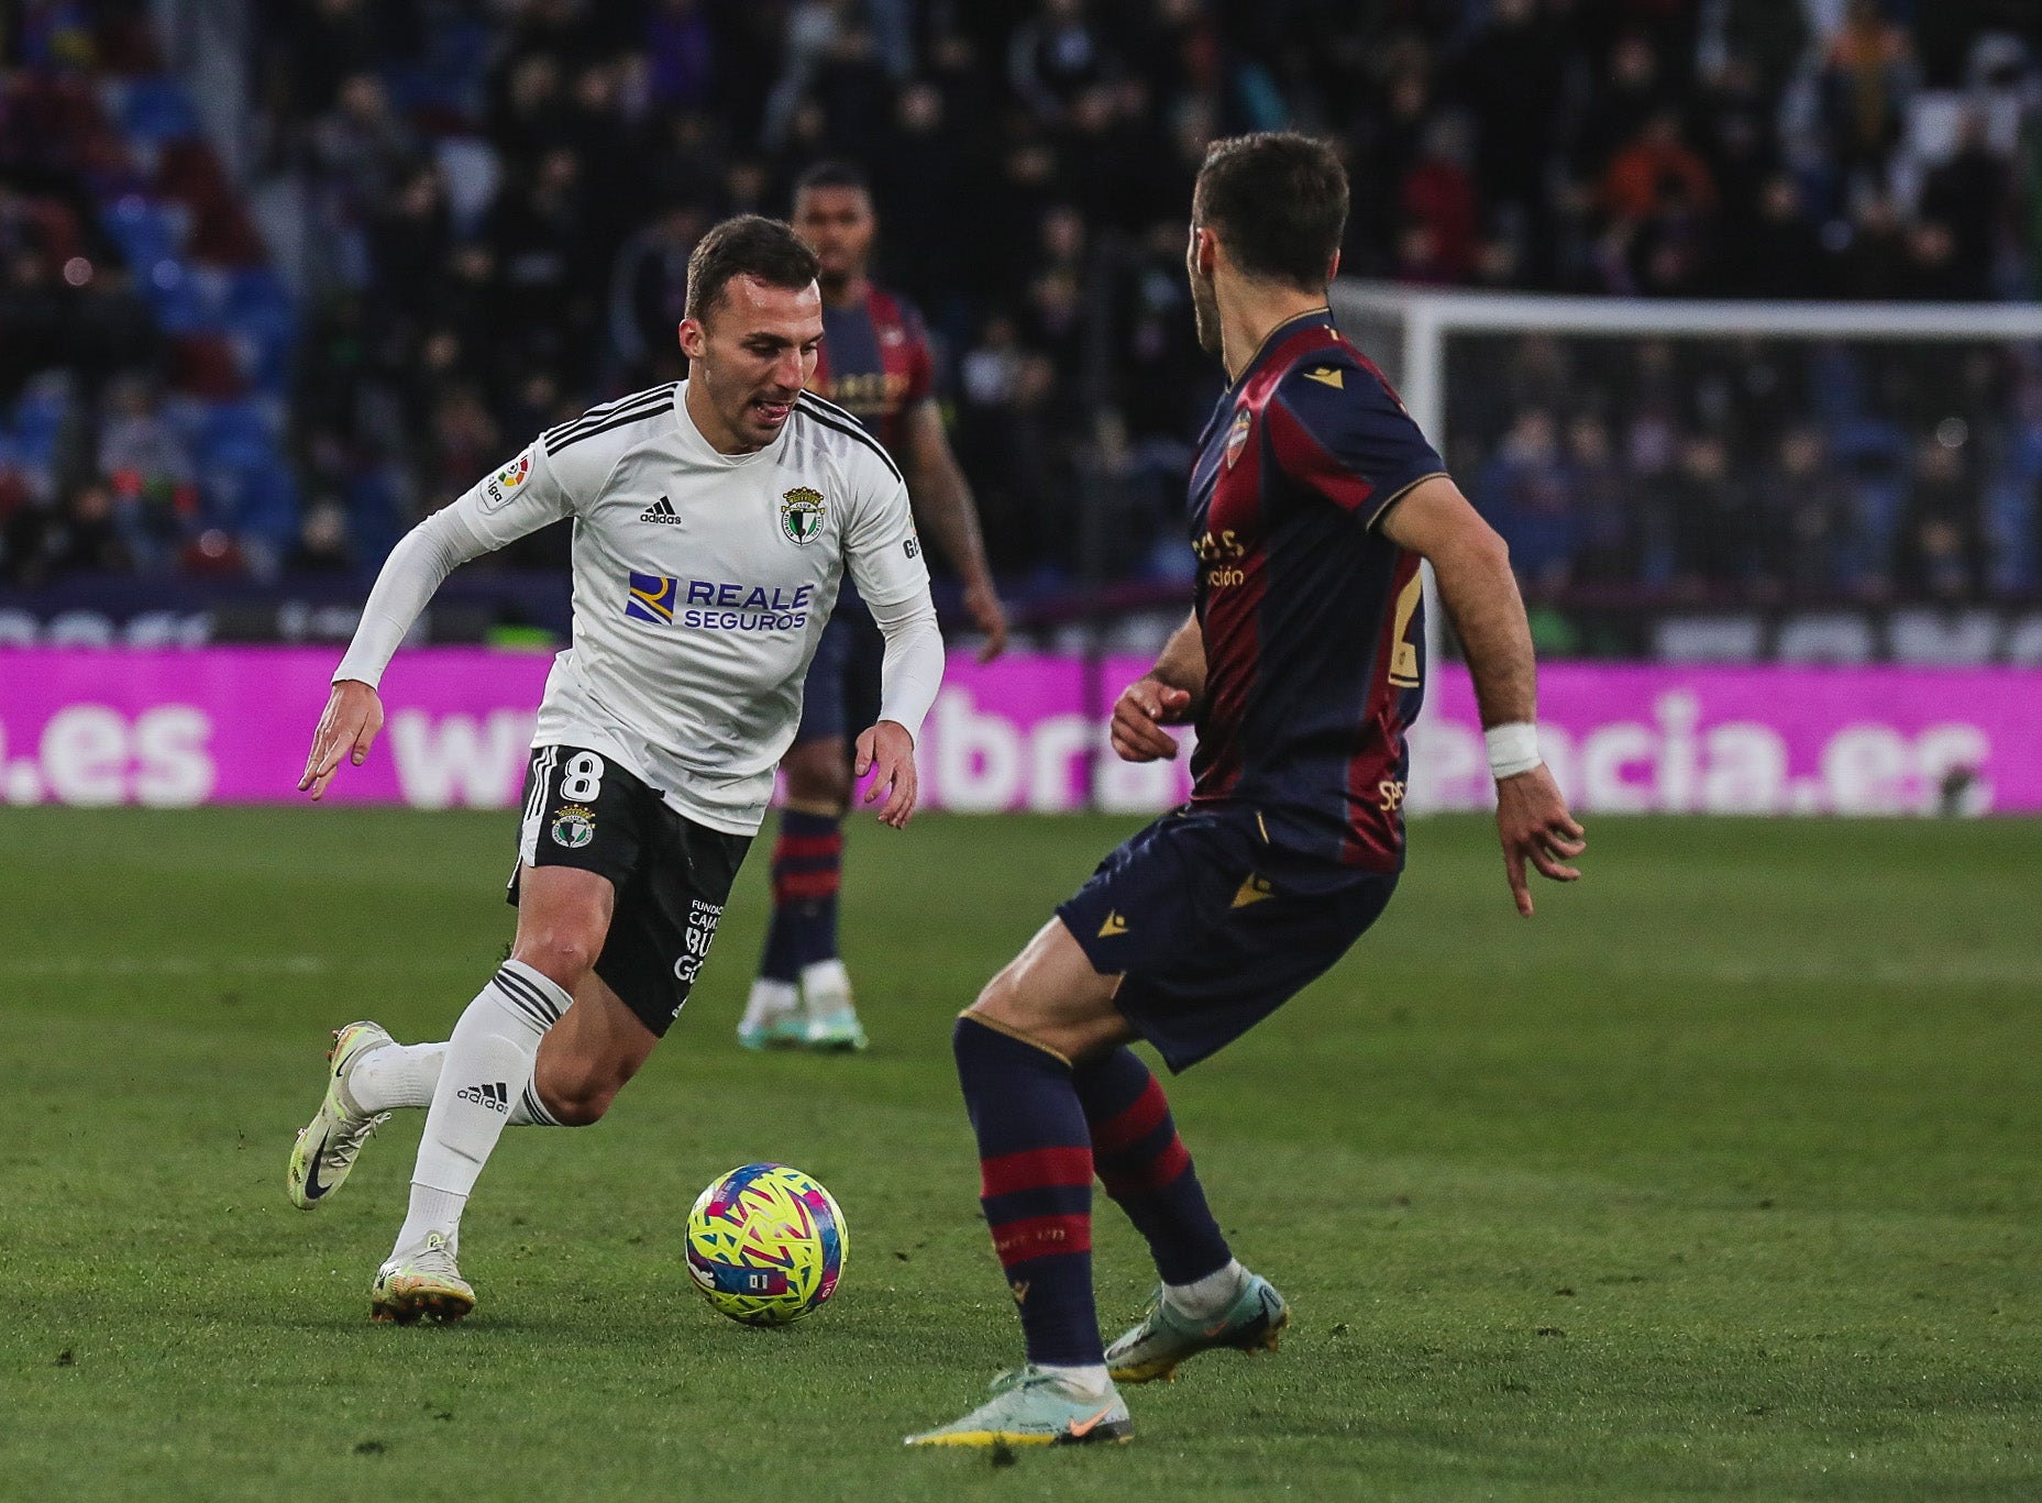
[[[843,572],[886,637],[858,737],[866,803],[915,809],[915,735],[943,641],[907,488],[843,408],[805,392],[823,339],[815,255],[780,221],[717,225],[688,261],[690,378],[547,431],[392,549],[333,676],[300,788],[319,798],[382,727],[376,684],[461,562],[574,519],[574,643],[533,735],[510,960],[445,1044],[335,1033],[292,1203],[331,1197],[386,1113],[425,1107],[410,1209],[374,1319],[474,1309],[461,1209],[504,1125],[596,1121],[680,1015],[800,721]]]

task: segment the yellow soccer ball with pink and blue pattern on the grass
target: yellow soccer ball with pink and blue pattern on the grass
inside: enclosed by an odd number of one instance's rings
[[[688,1211],[688,1274],[745,1325],[788,1325],[835,1295],[845,1244],[829,1191],[786,1164],[733,1168]]]

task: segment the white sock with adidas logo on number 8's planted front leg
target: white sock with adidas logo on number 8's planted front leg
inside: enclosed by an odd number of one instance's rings
[[[537,970],[506,960],[461,1013],[425,1113],[410,1211],[392,1256],[417,1248],[429,1231],[459,1242],[461,1209],[510,1119],[510,1105],[531,1086],[539,1041],[572,1005],[574,999]]]

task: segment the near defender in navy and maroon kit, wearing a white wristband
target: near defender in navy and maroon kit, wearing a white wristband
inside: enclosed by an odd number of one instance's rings
[[[1382,913],[1425,680],[1419,560],[1474,676],[1519,913],[1527,864],[1578,876],[1581,825],[1538,760],[1531,633],[1503,541],[1333,329],[1346,214],[1340,159],[1301,135],[1219,141],[1199,172],[1190,288],[1231,386],[1190,474],[1197,611],[1113,709],[1129,762],[1176,756],[1164,727],[1197,723],[1193,798],[1107,856],[958,1019],[980,1205],[1027,1364],[909,1444],[1125,1440],[1115,1380],[1276,1346],[1289,1309],[1233,1260],[1164,1090],[1127,1046],[1197,1064]],[[1092,1307],[1095,1174],[1162,1274],[1111,1348]]]

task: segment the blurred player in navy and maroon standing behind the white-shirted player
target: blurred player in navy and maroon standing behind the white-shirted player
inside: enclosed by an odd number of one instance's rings
[[[901,459],[921,531],[964,580],[984,635],[978,662],[1007,645],[972,488],[943,437],[933,355],[921,314],[866,278],[878,221],[864,176],[819,163],[794,184],[794,233],[821,261],[823,353],[811,390],[854,413]],[[772,854],[772,925],[737,1037],[745,1048],[862,1050],[866,1031],[837,950],[843,813],[852,803],[845,735],[872,723],[880,633],[849,586],[809,668],[800,731],[780,764],[786,809]]]

